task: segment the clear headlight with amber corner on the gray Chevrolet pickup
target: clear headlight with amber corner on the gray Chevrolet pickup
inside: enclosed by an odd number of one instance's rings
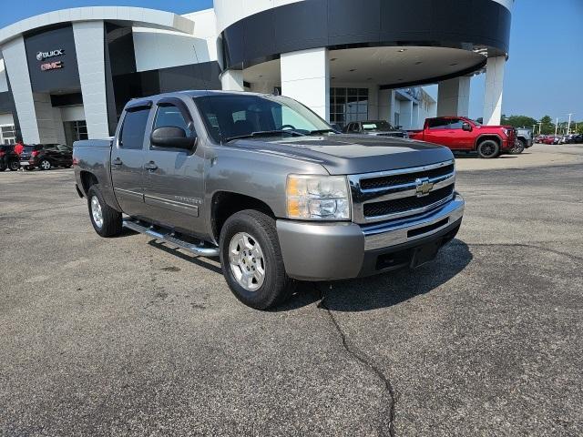
[[[346,177],[290,175],[285,192],[290,219],[350,219]]]

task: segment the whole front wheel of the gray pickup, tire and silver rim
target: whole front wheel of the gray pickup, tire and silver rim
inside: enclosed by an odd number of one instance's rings
[[[220,263],[235,297],[256,310],[268,310],[292,293],[283,265],[275,220],[246,209],[233,214],[220,232]]]

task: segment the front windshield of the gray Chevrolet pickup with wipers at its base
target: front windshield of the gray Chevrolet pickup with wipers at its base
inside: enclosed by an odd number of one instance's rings
[[[332,132],[332,127],[292,98],[258,95],[195,97],[210,136],[218,143],[237,137],[281,132],[304,134]],[[255,135],[254,135],[255,134]]]

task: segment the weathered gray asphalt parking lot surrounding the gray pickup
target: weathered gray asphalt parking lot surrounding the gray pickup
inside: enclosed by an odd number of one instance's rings
[[[487,166],[435,262],[271,312],[100,239],[72,170],[0,173],[0,434],[583,434],[583,164]]]

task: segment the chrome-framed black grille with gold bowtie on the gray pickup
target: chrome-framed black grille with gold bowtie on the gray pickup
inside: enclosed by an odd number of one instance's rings
[[[373,223],[424,214],[454,198],[455,165],[445,161],[421,168],[402,168],[349,176],[353,220]]]

